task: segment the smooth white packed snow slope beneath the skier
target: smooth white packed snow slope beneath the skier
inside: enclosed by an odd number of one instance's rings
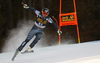
[[[100,41],[33,49],[34,53],[19,54],[14,61],[14,52],[1,53],[0,63],[100,63]]]

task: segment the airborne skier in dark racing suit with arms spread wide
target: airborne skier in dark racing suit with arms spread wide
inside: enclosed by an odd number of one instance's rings
[[[36,18],[36,21],[34,23],[34,26],[30,30],[27,38],[18,47],[17,52],[18,51],[20,52],[24,48],[24,46],[35,35],[36,38],[30,44],[30,46],[28,47],[28,49],[25,50],[25,52],[30,51],[35,46],[35,44],[40,40],[40,38],[42,37],[43,29],[46,27],[47,23],[51,23],[55,27],[55,29],[57,30],[58,34],[62,33],[62,31],[59,30],[59,28],[56,25],[56,23],[53,22],[53,20],[48,16],[49,15],[49,9],[44,8],[44,9],[42,9],[42,12],[40,12],[40,11],[36,10],[35,8],[33,8],[33,7],[29,7],[27,4],[23,4],[23,8],[33,10],[36,13],[37,18]]]

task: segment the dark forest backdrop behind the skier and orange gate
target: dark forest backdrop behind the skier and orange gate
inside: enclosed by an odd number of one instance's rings
[[[59,0],[0,0],[0,50],[11,29],[16,28],[19,21],[35,20],[35,13],[31,10],[23,9],[21,2],[41,10],[50,9],[50,16],[55,16],[59,20]],[[62,13],[73,12],[72,0],[62,1]],[[77,16],[79,23],[81,42],[100,40],[100,1],[99,0],[76,0]],[[55,34],[54,28],[48,25],[45,33],[50,37]],[[62,39],[74,38],[77,42],[76,26],[62,27]],[[54,33],[53,33],[54,32]],[[51,39],[47,37],[48,39]],[[50,41],[48,41],[51,45]],[[1,52],[1,51],[0,51]]]

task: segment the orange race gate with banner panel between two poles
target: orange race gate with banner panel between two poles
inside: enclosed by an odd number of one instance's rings
[[[78,43],[80,43],[80,36],[79,36],[79,28],[78,28],[75,0],[73,0],[73,4],[74,4],[74,12],[63,13],[62,14],[61,13],[62,0],[60,0],[59,29],[61,30],[61,26],[76,25]],[[59,35],[59,44],[60,44],[60,35]]]

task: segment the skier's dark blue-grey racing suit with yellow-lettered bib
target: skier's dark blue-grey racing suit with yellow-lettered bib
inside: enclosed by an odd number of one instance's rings
[[[29,34],[27,35],[27,38],[19,46],[19,48],[18,48],[19,51],[21,51],[23,49],[23,47],[33,38],[33,36],[36,35],[36,38],[30,44],[30,47],[33,48],[34,45],[42,37],[43,29],[46,27],[47,23],[51,23],[56,28],[56,30],[59,29],[58,26],[56,25],[56,23],[53,22],[53,20],[49,16],[43,18],[42,13],[40,11],[36,10],[33,7],[29,7],[29,9],[33,10],[35,12],[35,14],[37,15],[37,18],[36,18],[36,21],[35,21],[32,29],[30,30]]]

